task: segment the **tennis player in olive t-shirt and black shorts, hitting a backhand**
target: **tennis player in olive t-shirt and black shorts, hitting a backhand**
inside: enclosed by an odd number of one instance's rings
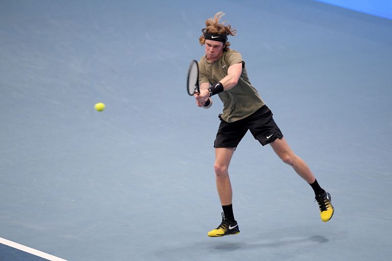
[[[291,150],[273,120],[272,112],[251,85],[241,54],[231,50],[227,41],[227,36],[234,36],[237,31],[226,21],[220,23],[223,15],[218,12],[214,18],[207,19],[206,27],[202,29],[199,43],[205,45],[205,55],[198,62],[200,94],[195,95],[199,107],[204,106],[213,95],[218,95],[223,103],[223,112],[219,115],[221,123],[214,142],[214,170],[223,209],[222,222],[208,232],[208,236],[240,233],[233,214],[228,167],[237,145],[248,130],[263,146],[270,144],[279,158],[310,184],[319,203],[321,220],[330,220],[334,214],[330,193],[319,186],[306,163]]]

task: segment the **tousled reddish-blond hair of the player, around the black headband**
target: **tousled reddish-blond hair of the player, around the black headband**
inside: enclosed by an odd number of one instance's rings
[[[224,16],[223,12],[218,12],[215,14],[214,18],[209,18],[205,21],[205,25],[206,27],[204,27],[203,29],[201,29],[201,31],[203,32],[203,34],[199,37],[199,43],[200,45],[204,45],[205,44],[205,38],[204,38],[204,33],[208,32],[208,33],[216,33],[216,34],[222,34],[222,35],[231,35],[234,36],[237,33],[237,30],[234,28],[231,28],[230,24],[226,24],[226,20],[224,20],[222,23],[219,23],[219,20],[221,20],[222,16]],[[230,42],[226,41],[224,43],[224,51],[229,50],[229,46],[230,46]]]

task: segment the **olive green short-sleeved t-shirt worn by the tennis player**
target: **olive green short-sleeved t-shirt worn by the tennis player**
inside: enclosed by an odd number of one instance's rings
[[[223,51],[222,57],[213,62],[207,62],[203,55],[198,62],[199,83],[216,84],[227,75],[228,68],[236,63],[242,63],[242,73],[236,86],[230,90],[219,93],[223,102],[223,114],[221,118],[226,122],[234,122],[244,119],[257,111],[265,103],[257,90],[250,84],[245,62],[242,56],[235,50]]]

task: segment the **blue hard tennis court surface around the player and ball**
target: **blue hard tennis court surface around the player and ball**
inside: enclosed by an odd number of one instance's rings
[[[229,169],[241,233],[207,237],[222,104],[196,107],[186,74],[219,11],[329,222],[247,133]],[[389,260],[391,68],[392,20],[319,1],[2,0],[0,260]]]

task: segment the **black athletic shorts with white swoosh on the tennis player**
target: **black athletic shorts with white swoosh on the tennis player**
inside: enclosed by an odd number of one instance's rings
[[[236,148],[248,130],[263,146],[283,138],[282,132],[272,118],[272,112],[264,105],[245,119],[232,123],[221,119],[214,148]]]

